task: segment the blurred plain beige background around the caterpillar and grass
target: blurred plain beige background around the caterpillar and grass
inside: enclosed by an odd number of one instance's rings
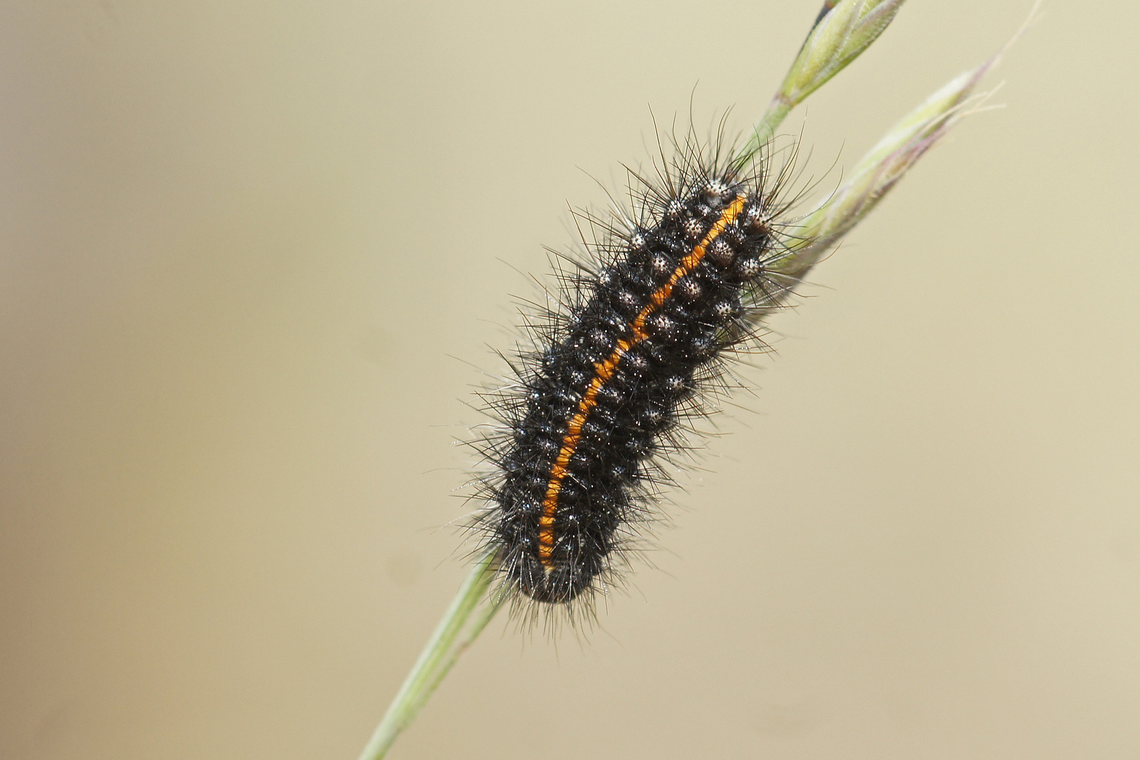
[[[355,758],[567,204],[650,107],[744,129],[816,3],[3,3],[0,757]],[[812,170],[1028,5],[907,3]],[[775,320],[658,569],[585,644],[496,621],[391,757],[1140,757],[1138,22],[1048,2]]]

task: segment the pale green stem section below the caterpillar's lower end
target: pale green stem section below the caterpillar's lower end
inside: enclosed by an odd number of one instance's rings
[[[459,655],[482,632],[502,606],[502,599],[487,599],[487,589],[496,575],[497,557],[487,553],[459,587],[451,605],[443,613],[412,672],[404,680],[383,720],[360,753],[360,760],[380,760],[405,728],[415,720],[435,687],[456,663]],[[483,602],[482,605],[480,603]],[[478,611],[478,614],[475,614]],[[470,628],[467,623],[471,621]],[[462,635],[466,628],[466,635]],[[462,635],[462,636],[461,636]]]

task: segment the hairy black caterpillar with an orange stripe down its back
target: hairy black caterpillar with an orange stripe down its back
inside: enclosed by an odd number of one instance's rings
[[[658,182],[634,174],[632,216],[588,218],[597,264],[563,275],[561,310],[490,399],[506,432],[487,446],[480,524],[500,594],[562,604],[613,582],[665,480],[654,456],[684,447],[726,349],[752,336],[750,310],[787,291],[766,270],[787,248],[763,171],[679,155]]]

